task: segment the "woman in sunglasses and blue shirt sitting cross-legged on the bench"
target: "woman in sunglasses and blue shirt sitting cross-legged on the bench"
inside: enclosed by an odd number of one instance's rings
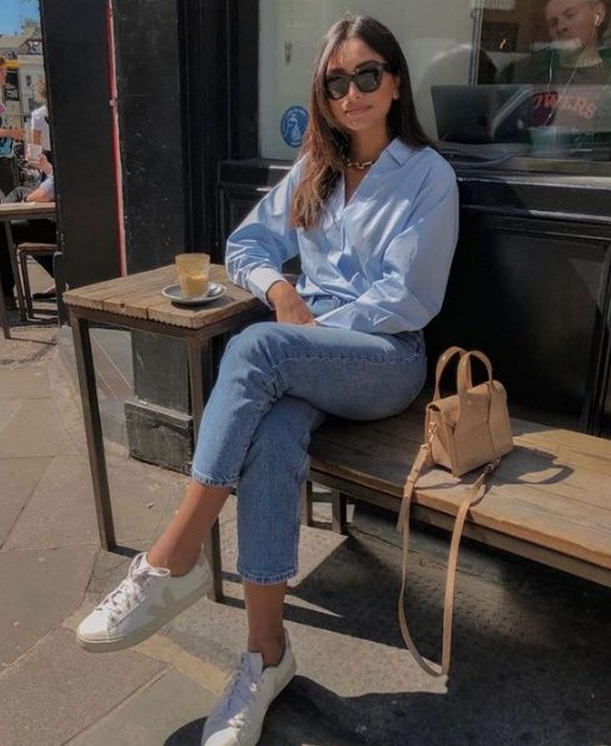
[[[204,594],[201,542],[237,487],[248,651],[207,719],[208,746],[256,744],[295,672],[283,601],[310,433],[325,413],[377,419],[410,404],[456,240],[454,172],[416,119],[401,48],[371,18],[336,23],[316,63],[302,157],[228,240],[229,275],[277,323],[229,343],[181,508],[78,631],[87,649],[116,650]],[[297,255],[293,288],[280,270]]]

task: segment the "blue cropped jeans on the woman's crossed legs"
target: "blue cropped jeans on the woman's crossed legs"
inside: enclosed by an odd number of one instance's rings
[[[299,498],[310,434],[325,413],[374,420],[424,383],[422,332],[400,336],[263,322],[231,339],[207,402],[192,477],[237,487],[238,571],[280,583],[298,571]]]

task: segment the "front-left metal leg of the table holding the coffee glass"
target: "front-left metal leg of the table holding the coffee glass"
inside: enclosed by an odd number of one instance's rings
[[[98,518],[98,531],[101,548],[113,551],[116,548],[113,509],[110,504],[104,440],[102,439],[98,391],[95,387],[95,368],[91,351],[89,321],[81,319],[77,311],[70,312],[70,326],[74,339],[78,385],[81,389],[83,419],[87,435],[87,452],[93,482],[95,514]]]

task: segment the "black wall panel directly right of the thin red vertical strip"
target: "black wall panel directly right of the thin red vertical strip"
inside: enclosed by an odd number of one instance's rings
[[[128,274],[185,250],[181,66],[175,0],[119,0],[116,80]]]

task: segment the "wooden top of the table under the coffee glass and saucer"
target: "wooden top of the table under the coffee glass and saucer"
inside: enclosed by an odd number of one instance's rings
[[[249,311],[268,312],[258,298],[228,280],[224,266],[210,266],[210,280],[225,285],[227,292],[205,306],[176,306],[161,294],[167,285],[178,283],[175,264],[70,289],[63,293],[63,301],[74,309],[89,308],[189,329],[201,329]]]

